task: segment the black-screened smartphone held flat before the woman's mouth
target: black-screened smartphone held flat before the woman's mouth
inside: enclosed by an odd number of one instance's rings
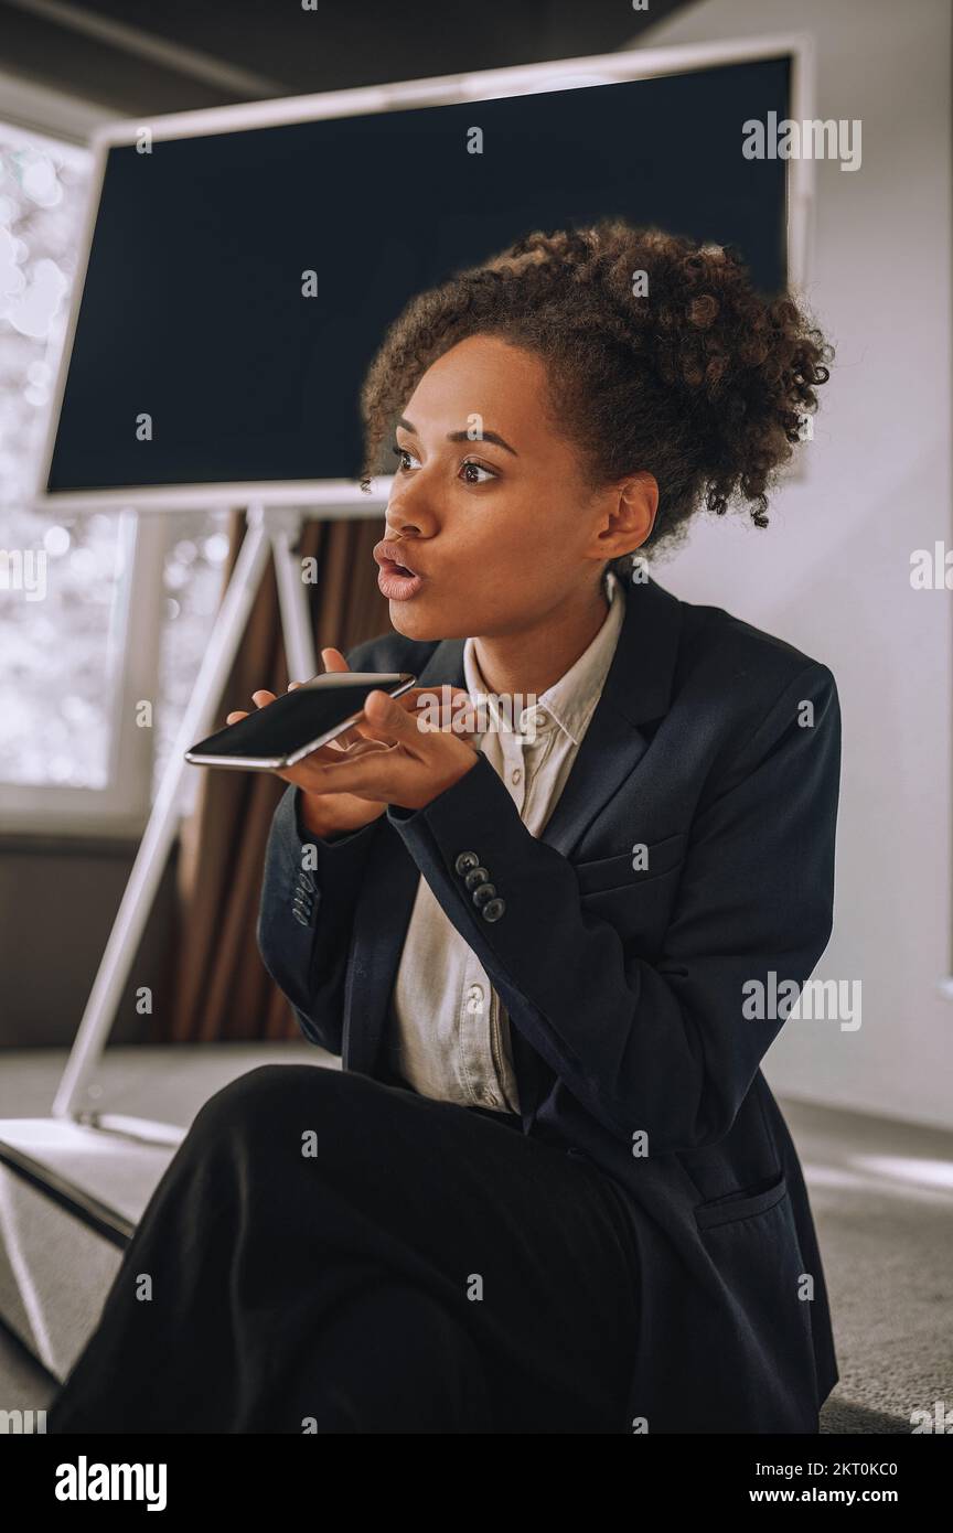
[[[319,745],[343,734],[360,716],[372,691],[400,698],[414,685],[409,671],[326,671],[294,691],[210,734],[185,751],[195,766],[241,766],[274,771],[294,766]]]

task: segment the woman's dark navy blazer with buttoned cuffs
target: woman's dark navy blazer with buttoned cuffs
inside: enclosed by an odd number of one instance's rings
[[[827,1292],[760,1070],[786,1009],[752,1018],[748,998],[752,981],[768,998],[800,987],[830,937],[837,685],[651,578],[625,601],[539,837],[481,753],[426,808],[389,805],[334,842],[302,832],[290,785],[257,941],[305,1036],[392,1079],[388,1003],[423,874],[507,1009],[524,1133],[625,1188],[642,1266],[631,1430],[817,1432],[838,1380]],[[388,633],[348,661],[464,687],[463,644]],[[475,865],[496,889],[490,920],[466,885]]]

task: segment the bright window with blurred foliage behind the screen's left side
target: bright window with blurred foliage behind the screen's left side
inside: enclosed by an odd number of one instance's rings
[[[32,506],[90,175],[87,150],[0,123],[0,828],[135,835],[219,602],[227,512]]]

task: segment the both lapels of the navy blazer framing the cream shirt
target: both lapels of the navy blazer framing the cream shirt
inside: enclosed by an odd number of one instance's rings
[[[576,848],[648,747],[642,724],[668,710],[682,629],[679,601],[651,578],[625,590],[625,616],[605,685],[573,768],[539,840],[564,855]],[[417,685],[464,687],[464,639],[443,639]],[[391,992],[414,909],[420,869],[386,819],[374,872],[355,911],[345,990],[343,1065],[375,1073]]]

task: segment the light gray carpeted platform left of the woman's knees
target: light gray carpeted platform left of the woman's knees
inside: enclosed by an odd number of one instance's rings
[[[66,1378],[95,1331],[126,1245],[202,1102],[282,1062],[340,1065],[306,1042],[110,1049],[95,1105],[120,1133],[43,1116],[58,1050],[3,1059],[0,1113],[37,1116],[0,1118],[0,1320],[54,1378]],[[158,1125],[170,1142],[146,1142]]]

